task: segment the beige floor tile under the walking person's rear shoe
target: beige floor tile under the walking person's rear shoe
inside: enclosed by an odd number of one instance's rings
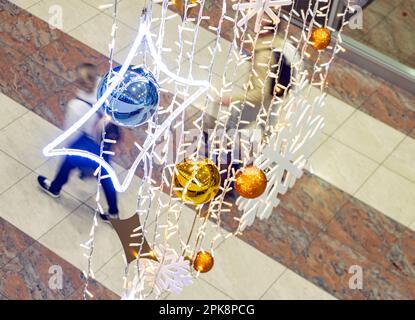
[[[32,173],[0,196],[0,216],[38,239],[75,210],[80,202],[66,193],[53,199],[43,193]]]

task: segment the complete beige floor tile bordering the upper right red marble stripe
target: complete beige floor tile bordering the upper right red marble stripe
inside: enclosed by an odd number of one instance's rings
[[[333,137],[380,163],[405,135],[357,111],[333,134]]]

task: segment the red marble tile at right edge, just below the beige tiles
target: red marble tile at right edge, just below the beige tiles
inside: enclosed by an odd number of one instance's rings
[[[414,233],[356,198],[340,209],[327,233],[391,273],[415,279]]]

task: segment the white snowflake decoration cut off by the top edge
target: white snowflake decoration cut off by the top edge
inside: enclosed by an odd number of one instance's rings
[[[239,9],[239,11],[248,10],[248,13],[244,15],[241,20],[239,20],[238,27],[244,26],[252,17],[256,15],[255,32],[259,32],[261,30],[261,22],[265,13],[275,24],[278,24],[280,19],[272,9],[288,6],[291,3],[292,0],[254,0],[249,3],[234,4],[232,8],[234,10]]]

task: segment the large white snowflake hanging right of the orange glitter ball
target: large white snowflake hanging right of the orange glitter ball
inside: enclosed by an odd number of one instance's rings
[[[268,219],[280,200],[303,175],[310,156],[310,146],[324,127],[321,115],[325,94],[316,97],[312,104],[307,100],[308,81],[303,78],[290,93],[288,103],[281,106],[278,125],[280,130],[271,134],[254,165],[266,172],[268,184],[257,199],[239,197],[236,204],[243,212],[240,231],[251,226],[255,218]]]

